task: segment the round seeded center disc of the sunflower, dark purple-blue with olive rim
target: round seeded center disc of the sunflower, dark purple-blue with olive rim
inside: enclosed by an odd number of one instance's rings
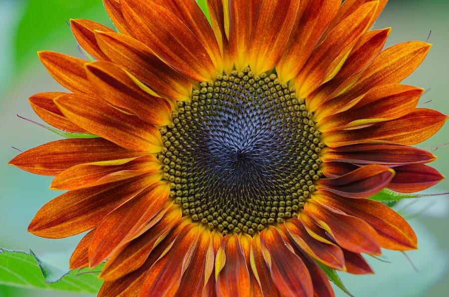
[[[178,107],[159,159],[184,215],[223,235],[297,216],[322,176],[324,144],[294,88],[246,68],[201,83]]]

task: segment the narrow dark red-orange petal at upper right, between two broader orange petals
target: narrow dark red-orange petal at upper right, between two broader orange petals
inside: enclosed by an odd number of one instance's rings
[[[381,52],[390,31],[391,28],[372,30],[360,36],[337,75],[307,97],[306,104],[309,110],[315,110],[327,100],[332,99],[331,95],[338,88],[341,89],[354,83],[353,78],[360,76],[360,71],[368,66]]]

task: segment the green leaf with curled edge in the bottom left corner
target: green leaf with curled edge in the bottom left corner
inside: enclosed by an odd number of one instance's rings
[[[57,269],[31,250],[28,254],[0,249],[0,285],[88,294],[98,293],[103,281],[97,277],[98,273],[89,269]]]

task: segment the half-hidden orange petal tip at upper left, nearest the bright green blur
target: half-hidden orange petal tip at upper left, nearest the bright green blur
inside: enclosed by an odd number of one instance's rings
[[[98,47],[97,40],[95,39],[95,30],[115,32],[114,30],[88,19],[71,19],[70,26],[76,41],[78,41],[79,45],[81,45],[81,47],[92,57],[97,60],[109,60]]]

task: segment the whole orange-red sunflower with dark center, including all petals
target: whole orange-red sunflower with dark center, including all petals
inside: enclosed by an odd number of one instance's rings
[[[411,147],[447,116],[399,84],[431,45],[383,50],[386,0],[103,0],[119,32],[72,19],[96,61],[42,51],[71,93],[29,98],[68,133],[10,161],[68,190],[28,231],[89,231],[70,268],[107,260],[99,296],[334,293],[320,265],[417,248],[408,223],[367,199],[443,176]],[[319,263],[319,264],[318,264]]]

